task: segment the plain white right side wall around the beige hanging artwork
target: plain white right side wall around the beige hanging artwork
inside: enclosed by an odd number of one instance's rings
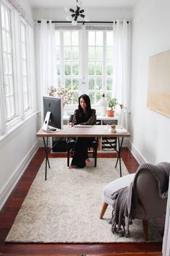
[[[133,14],[132,149],[138,161],[170,161],[170,119],[146,108],[149,56],[170,49],[170,1],[143,0]]]

